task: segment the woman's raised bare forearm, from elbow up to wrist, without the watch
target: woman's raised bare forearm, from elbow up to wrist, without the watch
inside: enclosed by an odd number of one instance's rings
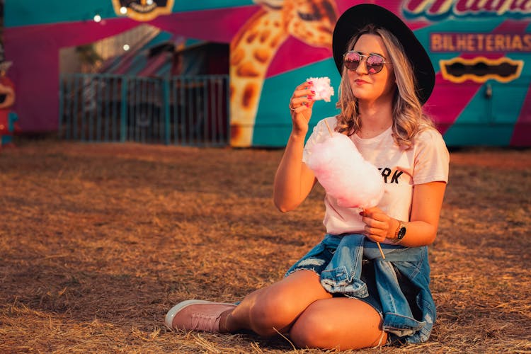
[[[278,210],[282,212],[295,209],[312,188],[313,174],[309,176],[309,169],[302,162],[303,150],[304,135],[292,132],[273,184],[273,201]]]

